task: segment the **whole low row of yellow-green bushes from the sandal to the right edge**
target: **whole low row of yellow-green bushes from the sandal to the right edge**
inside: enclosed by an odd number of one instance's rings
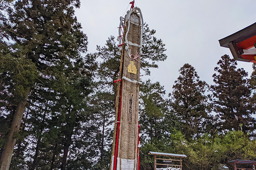
[[[206,133],[198,141],[188,143],[181,132],[174,130],[170,138],[145,144],[140,152],[140,169],[153,170],[154,158],[149,151],[185,154],[184,170],[217,170],[218,165],[230,160],[253,160],[256,158],[256,145],[242,131],[230,131],[224,135],[211,136]],[[230,169],[232,166],[227,164]]]

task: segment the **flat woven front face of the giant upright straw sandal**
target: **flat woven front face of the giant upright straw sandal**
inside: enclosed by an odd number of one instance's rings
[[[138,14],[132,13],[131,18],[133,20],[138,20],[140,22],[140,18]],[[126,17],[126,21],[127,21]],[[127,26],[128,23],[126,23]],[[140,25],[130,23],[130,32],[126,34],[127,40],[132,42],[133,44],[140,45],[140,34],[141,29]],[[127,28],[126,28],[127,31]],[[130,54],[136,54],[139,52],[139,46],[130,46],[129,47]],[[124,52],[124,60],[123,60],[123,76],[129,78],[131,80],[135,80],[137,82],[140,81],[140,56],[136,58],[136,62],[134,65],[137,68],[137,74],[131,74],[128,72],[128,65],[130,64],[130,54]],[[122,80],[122,105],[121,105],[121,115],[120,115],[120,135],[119,135],[119,143],[118,143],[118,158],[120,160],[129,160],[125,163],[125,161],[120,161],[120,169],[125,169],[130,166],[134,162],[134,169],[136,168],[136,158],[137,158],[137,142],[138,142],[138,100],[139,100],[139,84],[135,84],[133,82]],[[132,112],[130,114],[129,106],[130,101],[132,100]],[[129,113],[128,113],[129,112]],[[118,166],[119,167],[119,166]]]

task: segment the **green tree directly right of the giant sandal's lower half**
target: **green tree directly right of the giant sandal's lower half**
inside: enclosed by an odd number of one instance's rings
[[[139,140],[140,148],[140,169],[152,168],[152,159],[149,151],[159,151],[164,137],[165,124],[163,122],[167,112],[166,99],[164,99],[164,86],[159,82],[152,83],[151,80],[140,85],[139,101]]]

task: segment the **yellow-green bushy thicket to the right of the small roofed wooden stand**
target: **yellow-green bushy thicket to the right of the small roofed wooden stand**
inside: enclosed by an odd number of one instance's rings
[[[186,160],[186,169],[217,170],[218,164],[230,160],[252,160],[255,158],[255,141],[249,140],[242,131],[230,131],[223,136],[204,134],[198,142],[190,144],[193,149]],[[227,164],[231,167],[230,164]]]

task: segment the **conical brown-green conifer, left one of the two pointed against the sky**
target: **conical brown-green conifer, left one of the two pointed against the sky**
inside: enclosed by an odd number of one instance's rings
[[[193,66],[184,64],[179,70],[180,76],[175,80],[173,91],[169,94],[174,114],[180,121],[181,132],[187,140],[199,137],[206,132],[206,120],[210,110],[208,97],[204,94],[208,88]]]

